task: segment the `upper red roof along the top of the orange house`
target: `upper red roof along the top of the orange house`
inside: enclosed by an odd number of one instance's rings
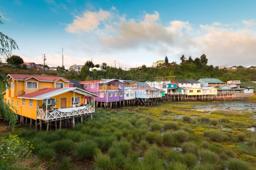
[[[69,80],[65,79],[64,77],[57,77],[57,76],[43,76],[43,75],[26,75],[26,74],[9,74],[14,80],[27,80],[29,78],[36,78],[39,81],[58,81],[63,80],[65,82],[69,82]]]

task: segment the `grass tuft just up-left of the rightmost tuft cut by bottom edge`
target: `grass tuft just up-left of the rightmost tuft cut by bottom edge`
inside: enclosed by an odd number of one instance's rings
[[[200,155],[203,163],[218,164],[219,162],[219,156],[207,149],[199,149],[198,154]]]

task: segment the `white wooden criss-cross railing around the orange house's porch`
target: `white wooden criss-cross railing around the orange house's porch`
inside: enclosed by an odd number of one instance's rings
[[[68,109],[47,110],[37,109],[37,119],[48,121],[61,120],[71,117],[94,113],[94,106],[82,106]]]

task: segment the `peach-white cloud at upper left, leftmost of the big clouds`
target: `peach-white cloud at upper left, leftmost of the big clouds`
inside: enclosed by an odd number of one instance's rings
[[[71,33],[80,33],[81,31],[91,32],[98,28],[101,22],[111,18],[111,14],[108,11],[100,10],[98,12],[86,11],[83,17],[75,16],[72,24],[68,24],[66,31]]]

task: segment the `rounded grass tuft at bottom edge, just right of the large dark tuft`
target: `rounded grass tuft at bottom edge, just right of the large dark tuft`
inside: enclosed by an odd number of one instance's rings
[[[110,159],[106,154],[97,154],[94,157],[94,166],[97,169],[108,170],[110,165]]]

